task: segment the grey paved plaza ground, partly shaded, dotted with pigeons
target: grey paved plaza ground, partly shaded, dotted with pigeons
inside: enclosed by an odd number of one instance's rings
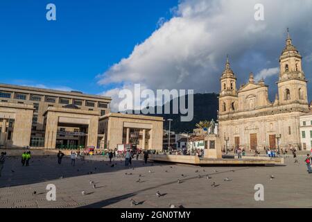
[[[71,167],[67,157],[61,165],[55,156],[33,157],[29,167],[21,167],[17,157],[8,157],[0,178],[0,207],[130,208],[131,198],[144,201],[132,208],[168,208],[169,204],[187,208],[312,207],[312,175],[306,172],[304,156],[298,160],[295,164],[292,157],[286,157],[285,167],[194,167],[150,162],[144,165],[139,160],[132,161],[131,170],[119,159],[114,161],[116,167],[110,167],[107,158],[98,156],[87,157],[85,162],[76,160],[75,167]],[[139,174],[141,182],[136,182]],[[198,178],[199,174],[202,178]],[[206,174],[212,178],[207,180]],[[271,175],[275,179],[270,180]],[[178,184],[178,179],[182,183]],[[96,182],[96,189],[89,185],[89,180]],[[213,182],[220,186],[211,187]],[[56,201],[46,200],[48,184],[56,186]],[[254,200],[256,184],[264,186],[264,201]],[[83,196],[82,191],[87,195]],[[166,195],[157,198],[156,191]]]

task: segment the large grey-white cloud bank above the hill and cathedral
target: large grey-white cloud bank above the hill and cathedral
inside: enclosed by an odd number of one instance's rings
[[[257,3],[264,6],[264,21],[254,19]],[[98,83],[121,85],[103,93],[112,96],[114,103],[119,102],[120,89],[135,83],[153,90],[219,92],[220,74],[229,54],[239,83],[254,71],[259,78],[270,76],[266,84],[276,87],[278,68],[272,67],[279,65],[287,27],[297,49],[309,60],[312,23],[307,21],[312,21],[311,7],[312,0],[181,1],[169,21],[159,19],[159,28],[135,46],[128,58],[98,76]],[[306,73],[312,71],[311,64],[304,68]]]

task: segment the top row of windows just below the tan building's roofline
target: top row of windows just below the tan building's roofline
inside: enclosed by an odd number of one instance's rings
[[[31,94],[30,100],[31,101],[42,101],[42,97],[40,95]],[[0,98],[11,98],[10,92],[0,92]],[[21,93],[15,93],[14,99],[19,100],[26,100],[27,94],[21,94]],[[57,97],[54,96],[44,96],[44,101],[47,103],[56,103]],[[70,103],[70,99],[60,98],[60,104],[68,105]],[[74,105],[83,105],[83,101],[74,99],[73,100]],[[95,107],[96,102],[94,101],[85,101],[85,106],[88,107]],[[107,108],[107,103],[100,103],[98,102],[98,108]]]

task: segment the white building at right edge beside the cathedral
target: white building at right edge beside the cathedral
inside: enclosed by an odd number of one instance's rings
[[[301,144],[304,151],[312,148],[312,110],[300,117]]]

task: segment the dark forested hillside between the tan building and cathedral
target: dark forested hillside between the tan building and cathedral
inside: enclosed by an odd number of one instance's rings
[[[186,96],[187,99],[187,96]],[[170,102],[171,112],[172,112],[173,100]],[[186,101],[187,104],[187,101]],[[162,110],[164,113],[164,106]],[[194,117],[193,121],[182,122],[180,120],[180,114],[149,114],[155,117],[164,117],[164,119],[173,119],[171,121],[171,130],[175,133],[183,133],[184,131],[193,132],[196,128],[196,123],[203,120],[216,120],[218,110],[218,94],[194,94]],[[164,129],[168,130],[168,121],[164,122]]]

